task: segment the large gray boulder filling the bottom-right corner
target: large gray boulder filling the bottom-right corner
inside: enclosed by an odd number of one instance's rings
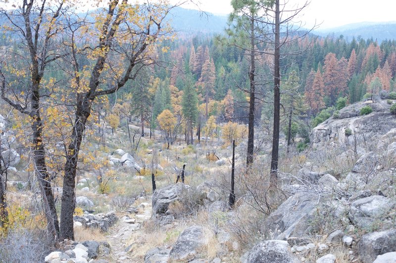
[[[358,243],[359,258],[372,263],[378,255],[396,251],[396,229],[365,234]]]

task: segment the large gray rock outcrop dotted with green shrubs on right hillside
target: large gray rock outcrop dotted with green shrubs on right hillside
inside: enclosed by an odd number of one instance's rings
[[[360,116],[360,109],[370,105],[373,112]],[[382,135],[396,127],[396,118],[389,111],[386,100],[358,102],[340,110],[338,119],[329,118],[312,129],[309,139],[311,146],[323,149],[329,145],[354,145],[369,141],[374,135]],[[351,129],[352,135],[345,135],[345,129]]]

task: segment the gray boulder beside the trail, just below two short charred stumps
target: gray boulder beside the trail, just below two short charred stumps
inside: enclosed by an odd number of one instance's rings
[[[181,182],[157,189],[152,195],[152,217],[166,215],[169,205],[178,201],[186,189],[187,186]]]

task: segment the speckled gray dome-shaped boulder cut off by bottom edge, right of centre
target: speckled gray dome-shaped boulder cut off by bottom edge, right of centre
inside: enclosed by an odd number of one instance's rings
[[[245,263],[298,263],[287,241],[267,240],[256,244],[249,252]]]

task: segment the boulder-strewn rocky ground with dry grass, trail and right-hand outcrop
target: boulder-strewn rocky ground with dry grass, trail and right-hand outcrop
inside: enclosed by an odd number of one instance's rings
[[[360,116],[368,104],[373,112]],[[159,151],[160,143],[147,140],[134,156],[105,153],[111,190],[100,193],[94,174],[80,178],[76,202],[84,212],[74,221],[82,238],[63,242],[46,262],[396,263],[396,117],[389,104],[349,105],[310,139],[302,153],[282,152],[275,188],[263,172],[265,149],[250,171],[238,154],[232,208],[229,147],[219,147],[217,161],[205,158],[203,143]],[[154,153],[152,194],[145,173]],[[175,183],[186,163],[185,183]],[[85,238],[86,229],[100,234]]]

